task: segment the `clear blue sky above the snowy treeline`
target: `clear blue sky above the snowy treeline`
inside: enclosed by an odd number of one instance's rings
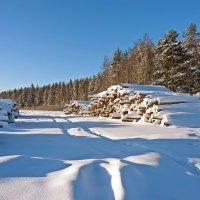
[[[144,33],[200,30],[199,0],[0,0],[0,91],[100,71]]]

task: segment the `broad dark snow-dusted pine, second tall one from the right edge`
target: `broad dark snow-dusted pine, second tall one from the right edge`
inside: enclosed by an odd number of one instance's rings
[[[186,75],[183,66],[186,60],[186,50],[177,37],[178,33],[171,30],[158,41],[154,76],[156,84],[181,91]]]

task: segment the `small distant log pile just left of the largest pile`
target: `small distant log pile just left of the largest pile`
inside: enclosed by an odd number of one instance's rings
[[[65,114],[79,114],[86,115],[88,113],[88,106],[90,101],[71,101],[70,104],[65,105],[65,109],[63,110]]]

